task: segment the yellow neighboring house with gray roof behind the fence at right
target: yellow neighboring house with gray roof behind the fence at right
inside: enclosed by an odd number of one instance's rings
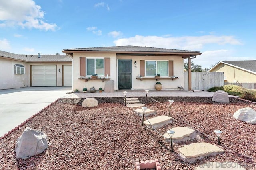
[[[208,72],[224,72],[225,82],[255,83],[256,60],[220,61]]]

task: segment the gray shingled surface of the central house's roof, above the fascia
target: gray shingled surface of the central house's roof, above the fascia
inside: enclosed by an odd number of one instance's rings
[[[199,53],[199,51],[164,49],[154,47],[140,47],[140,46],[113,46],[113,47],[92,47],[92,48],[76,48],[64,49],[64,51],[132,51],[132,52],[176,52],[176,53]]]

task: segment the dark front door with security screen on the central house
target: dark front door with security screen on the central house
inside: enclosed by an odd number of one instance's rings
[[[118,89],[132,88],[132,60],[118,60]]]

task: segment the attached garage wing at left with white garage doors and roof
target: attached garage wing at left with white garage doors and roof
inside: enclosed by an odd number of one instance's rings
[[[0,51],[0,89],[72,86],[72,58],[67,55],[20,55]]]

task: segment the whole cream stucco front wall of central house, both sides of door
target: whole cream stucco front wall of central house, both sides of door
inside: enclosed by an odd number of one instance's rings
[[[105,82],[101,80],[79,80],[78,78],[80,73],[80,57],[110,57],[110,72],[111,80],[114,80],[114,89],[118,90],[118,66],[117,60],[118,59],[130,59],[132,60],[132,89],[155,89],[156,80],[155,79],[143,79],[142,81],[136,79],[138,75],[140,75],[140,60],[173,60],[174,61],[174,75],[178,76],[179,79],[171,80],[171,79],[159,79],[158,81],[162,83],[163,89],[177,89],[178,85],[184,84],[183,81],[183,58],[179,56],[173,57],[160,57],[160,56],[116,56],[115,53],[74,53],[73,54],[73,90],[78,89],[82,91],[83,88],[87,88],[90,90],[91,87],[94,87],[96,90],[102,87],[104,90]],[[137,64],[134,64],[134,61]]]

